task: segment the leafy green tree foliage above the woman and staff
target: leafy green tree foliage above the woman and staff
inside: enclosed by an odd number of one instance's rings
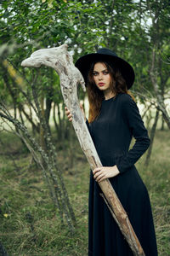
[[[29,81],[31,74],[28,70],[23,71],[20,61],[36,49],[66,43],[69,50],[74,52],[76,60],[79,55],[99,47],[108,47],[132,63],[136,73],[133,90],[147,89],[153,94],[150,65],[152,50],[156,48],[156,80],[162,94],[169,90],[167,62],[170,53],[170,9],[167,0],[26,0],[24,3],[14,0],[10,1],[10,4],[3,0],[1,10],[0,43],[16,44],[12,54],[8,54],[7,50],[3,52],[3,56],[8,56]],[[48,84],[50,95],[57,99],[52,90],[56,81],[53,79],[54,75],[49,70],[42,70],[44,75],[39,76],[39,80],[41,79],[46,88]],[[58,97],[58,101],[61,102],[62,99]]]

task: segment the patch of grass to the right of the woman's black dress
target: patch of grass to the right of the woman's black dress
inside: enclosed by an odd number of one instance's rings
[[[156,131],[150,165],[144,168],[144,157],[136,165],[150,194],[156,227],[158,252],[170,255],[170,132]]]

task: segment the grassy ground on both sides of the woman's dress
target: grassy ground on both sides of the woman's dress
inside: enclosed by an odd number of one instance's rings
[[[75,143],[70,154],[59,150],[59,164],[71,204],[77,216],[77,230],[71,234],[59,222],[43,182],[42,172],[31,163],[31,155],[12,134],[0,134],[0,241],[9,255],[88,255],[89,166]],[[77,148],[77,149],[75,149]],[[156,131],[150,166],[144,156],[137,168],[146,184],[156,225],[159,255],[170,255],[170,133]],[[64,164],[63,164],[64,163]],[[151,256],[151,255],[150,255]]]

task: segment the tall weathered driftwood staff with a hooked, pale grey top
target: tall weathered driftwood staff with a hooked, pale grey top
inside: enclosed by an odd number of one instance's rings
[[[99,155],[94,147],[94,143],[88,132],[88,127],[82,116],[82,111],[77,97],[77,85],[81,84],[85,91],[85,84],[82,74],[77,67],[74,66],[72,57],[67,51],[67,45],[63,44],[51,49],[38,49],[30,58],[22,61],[22,67],[53,67],[59,74],[60,87],[64,97],[65,105],[72,113],[72,125],[77,133],[82,151],[88,159],[92,170],[102,166],[99,160]],[[112,188],[109,179],[99,182],[104,195],[102,197],[113,218],[116,220],[123,236],[125,236],[129,247],[133,251],[133,255],[144,256],[143,248],[141,247],[138,237],[135,235],[132,225],[127,217],[127,213],[122,207],[115,190]]]

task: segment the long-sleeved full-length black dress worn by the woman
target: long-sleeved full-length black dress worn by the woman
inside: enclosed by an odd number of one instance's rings
[[[88,121],[87,121],[88,125]],[[145,185],[134,166],[150,145],[148,132],[132,97],[120,93],[102,102],[99,117],[88,129],[103,166],[116,165],[120,174],[110,181],[146,256],[156,256],[156,235]],[[132,137],[133,148],[129,150]],[[132,256],[133,253],[122,236],[111,212],[105,205],[99,184],[90,176],[88,255]]]

